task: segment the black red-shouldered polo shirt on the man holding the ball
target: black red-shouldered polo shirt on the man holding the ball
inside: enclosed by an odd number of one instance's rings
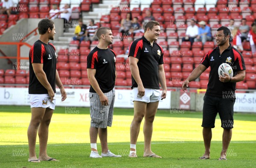
[[[229,64],[233,69],[233,76],[237,71],[245,70],[244,58],[242,54],[234,47],[230,46],[220,54],[219,48],[213,48],[205,55],[201,64],[207,68],[210,66],[209,83],[205,94],[215,97],[224,97],[225,95],[234,95],[236,90],[235,82],[223,83],[219,80],[218,67],[222,63]]]

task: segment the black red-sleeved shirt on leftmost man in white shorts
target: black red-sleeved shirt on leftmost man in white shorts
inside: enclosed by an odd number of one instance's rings
[[[45,44],[37,40],[29,51],[29,94],[48,94],[48,91],[35,76],[32,63],[42,63],[47,80],[55,90],[56,52],[52,43]]]

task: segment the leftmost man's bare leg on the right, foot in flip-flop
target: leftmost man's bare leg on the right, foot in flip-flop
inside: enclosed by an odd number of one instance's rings
[[[47,155],[47,141],[48,141],[49,125],[51,122],[52,114],[53,114],[53,110],[50,108],[47,108],[44,114],[44,118],[40,123],[39,129],[38,129],[39,144],[40,144],[38,159],[40,159],[41,161],[51,159],[51,157]],[[57,160],[52,159],[51,161],[57,161]]]

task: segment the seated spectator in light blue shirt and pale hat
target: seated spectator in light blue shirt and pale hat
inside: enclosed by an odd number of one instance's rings
[[[212,40],[211,29],[206,25],[205,21],[201,21],[198,24],[200,28],[198,29],[198,36],[194,39],[194,41],[201,41],[204,45],[206,41]]]

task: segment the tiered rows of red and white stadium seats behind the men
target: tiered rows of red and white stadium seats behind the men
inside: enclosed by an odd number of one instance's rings
[[[204,20],[211,27],[212,36],[218,27],[229,23],[233,18],[235,24],[239,25],[242,18],[247,19],[250,26],[256,18],[256,1],[240,0],[116,0],[116,4],[110,6],[108,1],[100,3],[99,0],[20,0],[19,10],[27,11],[17,14],[0,14],[0,34],[15,26],[18,20],[23,18],[46,18],[49,17],[49,10],[52,5],[58,9],[65,3],[70,3],[72,14],[70,19],[83,18],[84,23],[94,19],[96,25],[111,27],[114,34],[111,48],[116,52],[117,86],[131,85],[131,72],[129,70],[127,48],[132,40],[140,38],[143,33],[136,33],[128,36],[121,36],[118,33],[120,21],[127,12],[131,11],[132,17],[138,17],[141,22],[145,11],[150,9],[152,15],[161,24],[161,33],[157,43],[164,50],[164,69],[166,71],[166,83],[168,87],[180,87],[170,80],[172,77],[181,77],[185,80],[191,71],[201,62],[204,54],[215,47],[214,38],[206,42],[181,42],[185,36],[186,27],[190,25],[190,19]],[[111,1],[112,2],[112,1]],[[21,6],[22,5],[22,6]],[[232,8],[230,8],[232,6]],[[15,7],[14,7],[15,8]],[[17,8],[16,8],[17,9]],[[58,53],[57,69],[61,80],[67,83],[69,78],[75,77],[74,85],[90,85],[87,79],[87,54],[98,44],[97,41],[73,41],[74,28],[54,41],[56,53]],[[246,64],[246,79],[237,84],[238,89],[256,88],[256,55],[250,51],[250,43],[243,42],[244,61]],[[209,68],[197,81],[191,82],[191,88],[207,88]],[[25,70],[0,69],[0,84],[26,84],[29,82],[29,75]],[[1,86],[2,87],[2,86]],[[8,87],[8,85],[6,85]]]

